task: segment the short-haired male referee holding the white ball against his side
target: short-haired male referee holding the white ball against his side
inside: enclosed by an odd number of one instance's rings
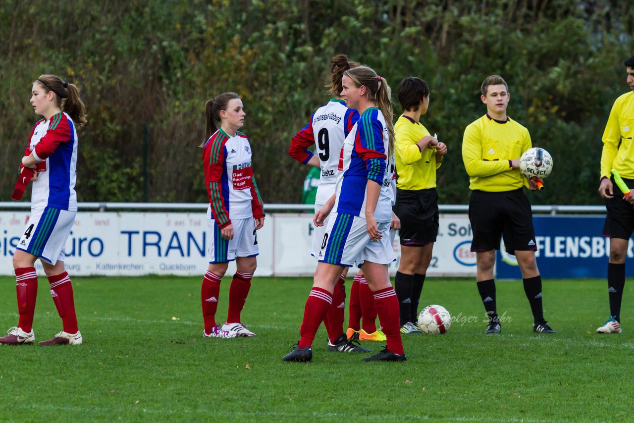
[[[524,292],[533,311],[533,331],[553,334],[543,317],[541,277],[535,260],[535,235],[531,204],[522,188],[536,190],[536,181],[527,181],[519,171],[519,157],[531,148],[531,136],[521,124],[507,116],[510,93],[500,75],[482,82],[481,100],[486,115],[465,129],[462,160],[472,190],[469,221],[473,230],[471,251],[475,251],[477,288],[489,324],[485,334],[501,332],[496,308],[493,266],[500,237],[522,270]]]

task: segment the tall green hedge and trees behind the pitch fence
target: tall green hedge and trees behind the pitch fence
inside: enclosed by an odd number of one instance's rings
[[[555,162],[531,201],[601,204],[600,138],[629,91],[633,33],[634,8],[603,0],[0,0],[0,200],[38,119],[31,84],[52,73],[79,86],[89,112],[80,201],[205,202],[204,103],[236,91],[262,197],[299,202],[307,168],[288,143],[328,99],[330,57],[346,53],[389,80],[396,112],[403,77],[430,85],[422,121],[449,148],[441,203],[468,202],[463,130],[486,112],[482,80],[501,74],[508,115]]]

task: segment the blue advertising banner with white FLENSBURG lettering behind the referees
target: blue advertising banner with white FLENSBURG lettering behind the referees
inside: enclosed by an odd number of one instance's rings
[[[533,216],[537,266],[543,278],[605,278],[610,238],[602,237],[605,216]],[[628,259],[634,257],[630,238]],[[496,254],[496,278],[519,279],[515,256],[503,245]],[[628,260],[629,261],[629,260]],[[626,266],[634,276],[634,266]]]

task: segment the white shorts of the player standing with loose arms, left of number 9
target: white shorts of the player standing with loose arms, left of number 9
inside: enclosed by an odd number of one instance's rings
[[[209,263],[224,263],[234,261],[236,257],[254,257],[259,254],[254,218],[231,219],[231,225],[233,225],[233,239],[226,240],[222,236],[220,226],[216,225],[216,221],[207,218],[210,235],[207,243]]]

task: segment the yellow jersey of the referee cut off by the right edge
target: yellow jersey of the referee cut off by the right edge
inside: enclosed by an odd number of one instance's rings
[[[634,91],[614,101],[603,132],[601,177],[616,169],[623,178],[634,179]],[[619,142],[621,146],[619,146]]]

